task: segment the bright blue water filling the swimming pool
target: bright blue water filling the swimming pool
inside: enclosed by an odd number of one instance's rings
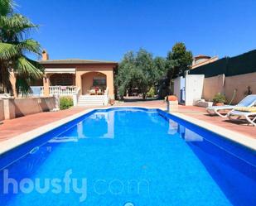
[[[256,153],[160,110],[95,110],[0,159],[0,205],[256,205]]]

